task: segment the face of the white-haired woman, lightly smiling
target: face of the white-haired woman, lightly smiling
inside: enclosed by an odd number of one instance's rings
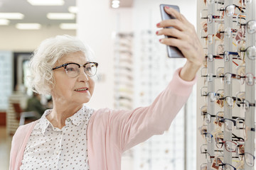
[[[70,62],[83,65],[89,61],[82,52],[74,52],[65,55],[59,62],[55,63],[54,67]],[[90,101],[94,91],[95,81],[92,77],[85,74],[83,67],[80,67],[80,72],[77,77],[68,77],[64,67],[55,69],[53,71],[53,77],[55,79],[55,86],[53,86],[51,94],[55,103],[68,102],[73,105],[81,105],[82,103]]]

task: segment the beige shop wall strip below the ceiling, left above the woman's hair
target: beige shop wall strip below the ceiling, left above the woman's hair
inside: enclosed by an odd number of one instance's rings
[[[40,30],[18,30],[14,26],[0,27],[0,50],[31,52],[42,40],[55,35],[75,35],[75,30],[61,30],[58,26],[43,26]]]

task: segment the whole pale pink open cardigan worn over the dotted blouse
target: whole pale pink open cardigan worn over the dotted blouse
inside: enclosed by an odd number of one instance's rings
[[[152,135],[168,130],[178,111],[191,94],[193,81],[183,81],[176,70],[167,88],[147,107],[132,111],[102,108],[88,123],[87,150],[90,170],[121,169],[122,153]],[[22,125],[11,142],[10,170],[21,166],[23,152],[36,122]]]

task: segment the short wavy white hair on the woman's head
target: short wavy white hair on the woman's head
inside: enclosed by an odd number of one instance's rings
[[[73,52],[83,52],[92,61],[94,53],[84,42],[70,35],[57,35],[41,42],[29,62],[29,85],[38,94],[50,94],[55,84],[53,67],[61,57]],[[93,79],[93,78],[92,78]]]

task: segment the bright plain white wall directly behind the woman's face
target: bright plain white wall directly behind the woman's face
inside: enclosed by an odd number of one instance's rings
[[[92,108],[114,107],[114,33],[132,31],[132,8],[110,8],[110,1],[78,0],[78,38],[95,52],[99,81]]]

